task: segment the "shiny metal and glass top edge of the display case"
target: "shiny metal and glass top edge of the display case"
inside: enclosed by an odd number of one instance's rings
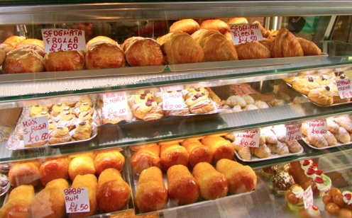
[[[68,4],[70,3],[70,4]],[[109,3],[109,4],[106,4]],[[312,16],[351,13],[351,1],[1,1],[2,23],[172,20],[189,17]],[[9,7],[11,6],[11,7]],[[317,7],[319,6],[319,7]],[[216,8],[216,10],[214,10]],[[26,12],[26,13],[24,13]]]

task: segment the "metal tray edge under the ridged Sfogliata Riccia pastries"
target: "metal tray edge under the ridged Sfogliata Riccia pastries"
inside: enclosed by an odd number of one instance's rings
[[[244,67],[261,67],[273,66],[282,64],[293,64],[295,62],[305,62],[314,59],[323,59],[328,57],[328,54],[304,56],[304,57],[273,57],[266,59],[245,59],[237,61],[224,61],[224,62],[201,62],[190,64],[168,64],[167,67],[171,71],[186,71],[197,69],[222,69],[222,68],[244,68]]]

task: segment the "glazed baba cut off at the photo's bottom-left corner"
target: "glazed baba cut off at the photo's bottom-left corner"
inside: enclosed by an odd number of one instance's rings
[[[33,199],[33,185],[20,185],[13,188],[7,202],[0,208],[0,217],[31,217]]]

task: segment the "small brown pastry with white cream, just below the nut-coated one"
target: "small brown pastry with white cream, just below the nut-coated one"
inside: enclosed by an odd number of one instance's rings
[[[298,184],[291,185],[290,189],[287,190],[285,193],[285,199],[291,210],[299,210],[304,207],[303,193],[303,188]]]

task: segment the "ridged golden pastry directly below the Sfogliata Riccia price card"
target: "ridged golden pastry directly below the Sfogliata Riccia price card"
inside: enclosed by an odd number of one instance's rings
[[[238,59],[263,59],[271,57],[270,50],[257,41],[238,44],[235,45],[235,48]]]

